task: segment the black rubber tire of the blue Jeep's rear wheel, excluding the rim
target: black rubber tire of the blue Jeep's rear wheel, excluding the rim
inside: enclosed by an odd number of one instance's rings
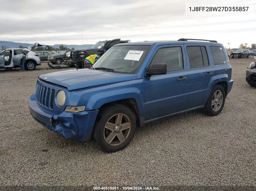
[[[214,111],[213,108],[212,108],[212,99],[213,99],[213,96],[214,96],[214,93],[216,91],[221,91],[222,92],[222,105],[221,107],[218,109],[218,111]],[[215,84],[214,87],[212,88],[212,91],[209,95],[209,98],[207,100],[207,102],[205,103],[205,106],[204,106],[204,113],[206,115],[209,115],[209,116],[216,116],[218,115],[219,113],[221,113],[223,107],[224,107],[224,104],[225,104],[225,98],[226,98],[226,94],[225,94],[225,91],[224,91],[224,88],[219,85],[219,84]]]

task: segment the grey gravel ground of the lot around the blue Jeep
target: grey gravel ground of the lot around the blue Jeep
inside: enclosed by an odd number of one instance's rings
[[[37,76],[60,70],[0,70],[0,185],[256,186],[256,88],[245,81],[253,60],[230,59],[234,87],[218,116],[198,110],[149,123],[112,154],[93,141],[65,140],[30,116]]]

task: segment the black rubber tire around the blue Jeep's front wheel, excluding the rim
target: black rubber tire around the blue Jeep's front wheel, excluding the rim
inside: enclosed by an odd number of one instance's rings
[[[113,145],[108,144],[105,141],[105,137],[104,137],[104,136],[106,136],[105,135],[105,124],[109,121],[111,116],[114,116],[115,114],[118,114],[118,113],[124,114],[123,116],[127,117],[130,120],[130,130],[129,130],[127,137],[123,143],[120,143],[120,145],[117,145],[117,146],[113,146]],[[118,128],[118,125],[116,127]],[[120,127],[121,127],[121,125],[120,125]],[[137,125],[136,125],[135,114],[128,107],[126,107],[124,105],[120,105],[120,104],[112,105],[110,107],[103,108],[100,111],[100,113],[98,114],[98,118],[97,118],[97,121],[94,126],[93,138],[95,139],[98,147],[101,148],[105,152],[112,153],[112,152],[120,151],[120,150],[124,149],[131,142],[131,140],[135,134],[136,127],[137,127]],[[127,130],[128,129],[125,129],[125,133]],[[121,130],[119,130],[119,131],[121,131]],[[122,132],[121,132],[122,135],[123,135],[123,131],[124,130],[122,130]],[[114,133],[115,130],[112,130],[112,132]],[[111,132],[109,132],[109,134],[110,133]],[[113,141],[119,140],[117,135],[118,135],[117,133],[116,133],[116,135],[114,135]],[[119,135],[121,135],[121,134],[119,134]],[[123,135],[123,137],[124,137],[124,135]]]

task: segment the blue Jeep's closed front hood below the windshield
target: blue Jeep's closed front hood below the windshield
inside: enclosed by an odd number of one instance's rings
[[[138,75],[119,74],[102,70],[75,69],[43,74],[40,75],[39,78],[46,82],[64,86],[71,91],[104,84],[135,80],[138,78]]]

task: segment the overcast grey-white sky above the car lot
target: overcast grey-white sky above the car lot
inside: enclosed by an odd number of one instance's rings
[[[256,43],[255,0],[226,0],[248,11],[214,16],[186,15],[186,2],[222,5],[219,0],[0,0],[0,41],[81,45],[83,29],[84,44],[115,38],[210,39],[227,48]]]

